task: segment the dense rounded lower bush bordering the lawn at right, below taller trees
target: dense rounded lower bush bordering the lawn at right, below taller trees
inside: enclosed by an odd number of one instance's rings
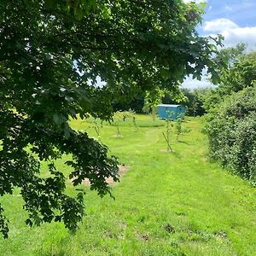
[[[207,115],[211,156],[232,172],[256,179],[256,89],[233,93]]]

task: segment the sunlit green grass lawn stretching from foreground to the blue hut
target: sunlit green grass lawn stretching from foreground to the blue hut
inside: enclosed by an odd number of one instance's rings
[[[5,196],[10,232],[0,238],[0,255],[256,255],[256,191],[207,162],[201,119],[183,123],[191,131],[180,142],[173,135],[172,154],[164,121],[140,115],[137,131],[127,124],[120,123],[122,137],[113,125],[100,130],[110,154],[130,166],[113,185],[115,201],[84,186],[87,215],[73,235],[62,224],[26,227],[20,196]],[[72,125],[96,137],[91,120]]]

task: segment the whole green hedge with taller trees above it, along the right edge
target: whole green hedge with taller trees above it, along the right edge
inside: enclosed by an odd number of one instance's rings
[[[235,61],[222,70],[221,84],[206,97],[206,131],[212,159],[255,182],[256,54],[237,56],[242,49],[226,50]]]

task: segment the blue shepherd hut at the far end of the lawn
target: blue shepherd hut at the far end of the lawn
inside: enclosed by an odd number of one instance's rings
[[[182,105],[160,104],[157,106],[157,113],[160,119],[176,120],[179,116],[185,115],[185,110]]]

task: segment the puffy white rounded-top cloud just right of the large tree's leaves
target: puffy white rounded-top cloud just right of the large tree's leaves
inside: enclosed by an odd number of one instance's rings
[[[208,32],[223,32],[225,30],[230,30],[237,28],[235,22],[229,19],[221,18],[217,20],[206,21],[203,30]]]

